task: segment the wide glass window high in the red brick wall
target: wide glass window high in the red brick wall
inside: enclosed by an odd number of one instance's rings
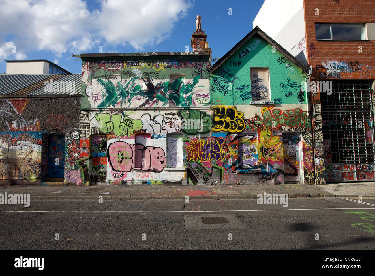
[[[363,24],[315,24],[315,38],[325,40],[366,39]]]

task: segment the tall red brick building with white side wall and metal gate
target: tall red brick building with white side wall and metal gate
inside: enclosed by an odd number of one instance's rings
[[[360,3],[266,0],[253,22],[310,66],[316,184],[375,179],[375,2]]]

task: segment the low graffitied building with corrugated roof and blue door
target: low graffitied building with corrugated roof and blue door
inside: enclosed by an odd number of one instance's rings
[[[79,181],[81,74],[0,75],[0,185]]]

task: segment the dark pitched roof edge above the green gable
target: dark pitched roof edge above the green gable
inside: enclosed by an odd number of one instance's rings
[[[270,36],[268,36],[265,32],[263,32],[261,29],[259,29],[258,26],[255,26],[255,28],[248,33],[243,39],[240,40],[234,47],[229,50],[224,56],[222,56],[221,59],[217,60],[209,69],[210,72],[215,71],[225,60],[227,60],[232,54],[234,54],[239,48],[242,47],[243,44],[245,44],[250,38],[252,38],[255,34],[260,35],[265,41],[267,41],[270,45],[275,46],[276,50],[278,50],[280,53],[282,53],[288,60],[293,62],[296,66],[302,69],[303,72],[308,74],[310,68],[306,67],[302,62],[300,62],[296,57],[294,57],[292,54],[288,52],[284,47],[282,47],[278,42],[273,40]]]

